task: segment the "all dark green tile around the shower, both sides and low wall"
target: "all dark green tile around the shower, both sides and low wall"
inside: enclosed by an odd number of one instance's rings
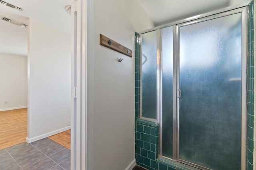
[[[247,170],[253,170],[254,150],[254,22],[253,1],[248,5],[248,56],[247,56]],[[135,148],[136,163],[148,170],[186,170],[189,167],[158,159],[159,125],[140,118],[140,38],[135,33]]]

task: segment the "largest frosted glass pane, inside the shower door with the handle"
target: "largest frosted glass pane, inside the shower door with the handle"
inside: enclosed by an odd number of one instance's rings
[[[240,13],[180,28],[182,160],[241,169]]]

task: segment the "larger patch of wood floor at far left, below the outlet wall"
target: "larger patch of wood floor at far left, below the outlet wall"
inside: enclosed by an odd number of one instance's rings
[[[28,110],[0,112],[0,150],[26,141]]]

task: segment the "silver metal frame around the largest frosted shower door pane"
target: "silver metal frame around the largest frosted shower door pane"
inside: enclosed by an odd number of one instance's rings
[[[174,155],[174,158],[173,160],[176,160],[178,162],[181,162],[181,163],[184,163],[184,164],[188,164],[190,166],[194,166],[196,168],[200,168],[200,169],[205,169],[205,170],[208,170],[208,168],[205,168],[205,167],[202,167],[202,166],[199,166],[199,165],[196,165],[196,164],[193,164],[191,162],[187,162],[185,160],[181,160],[179,159],[179,116],[180,116],[180,113],[179,113],[179,97],[178,97],[178,93],[179,93],[179,90],[180,90],[180,28],[183,27],[183,26],[188,26],[188,25],[191,25],[191,24],[196,24],[196,23],[199,23],[199,22],[204,22],[204,21],[207,21],[207,20],[212,20],[212,19],[216,19],[216,18],[220,18],[220,17],[224,17],[224,16],[228,16],[228,15],[232,15],[232,14],[237,14],[237,13],[241,13],[242,14],[242,120],[241,120],[241,123],[242,123],[242,127],[241,127],[241,169],[242,170],[245,170],[246,168],[246,30],[247,30],[247,27],[246,27],[246,14],[247,14],[247,8],[246,7],[243,7],[243,8],[238,8],[238,9],[234,9],[234,10],[230,10],[230,11],[227,11],[227,12],[222,12],[222,13],[219,13],[219,14],[213,14],[211,16],[207,16],[207,17],[204,17],[204,18],[200,18],[200,19],[197,19],[197,20],[192,20],[192,21],[189,21],[189,22],[185,22],[185,23],[182,23],[182,24],[177,24],[176,26],[174,26],[174,42],[176,42],[176,44],[174,45],[174,60],[176,61],[176,68],[174,67],[174,71],[176,72],[176,74],[174,74],[174,80],[176,79],[176,81],[173,81],[174,82],[174,93],[175,94],[175,101],[174,101],[174,117],[173,117],[173,129],[176,133],[176,136],[173,136],[173,142],[174,142],[174,147],[176,148],[173,148],[173,155]],[[176,113],[176,114],[175,114]]]

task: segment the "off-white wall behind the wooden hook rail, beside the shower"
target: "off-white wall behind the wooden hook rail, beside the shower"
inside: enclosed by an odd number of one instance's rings
[[[137,0],[93,0],[93,108],[89,114],[88,169],[124,170],[135,158],[135,32],[154,27]],[[93,24],[93,25],[91,25]],[[132,49],[133,57],[100,45],[100,34]],[[90,55],[89,55],[90,57]],[[124,60],[119,63],[117,58]],[[90,89],[91,87],[91,89]],[[90,101],[89,101],[90,103]]]

